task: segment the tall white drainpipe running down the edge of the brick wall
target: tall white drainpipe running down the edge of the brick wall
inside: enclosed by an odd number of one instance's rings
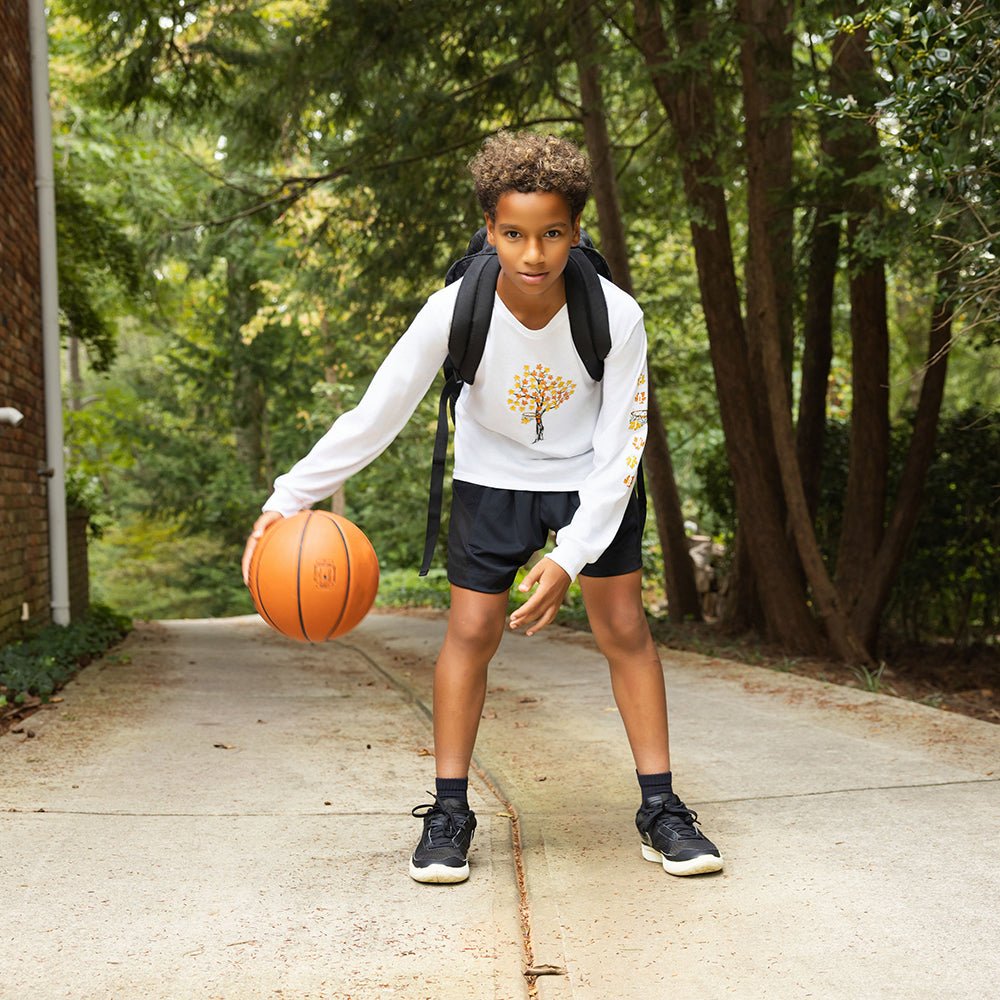
[[[45,0],[28,0],[31,39],[31,106],[35,131],[35,186],[41,263],[42,346],[45,365],[45,453],[48,469],[49,566],[52,621],[69,624],[69,542],[66,529],[66,461],[63,451],[59,350],[59,276],[56,269],[56,192],[49,109],[49,38]]]

